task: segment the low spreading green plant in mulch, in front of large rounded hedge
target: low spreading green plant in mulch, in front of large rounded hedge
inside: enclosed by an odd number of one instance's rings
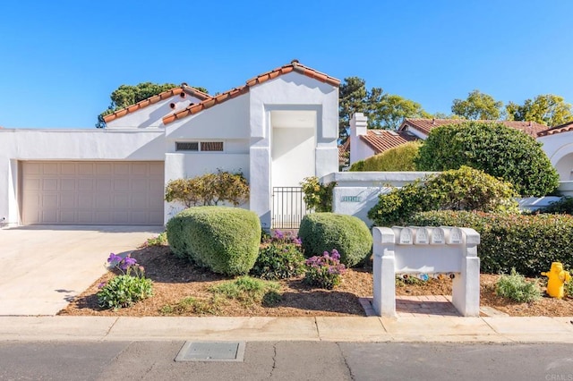
[[[246,305],[280,300],[280,286],[277,283],[262,281],[250,276],[241,276],[234,281],[214,285],[209,291]]]

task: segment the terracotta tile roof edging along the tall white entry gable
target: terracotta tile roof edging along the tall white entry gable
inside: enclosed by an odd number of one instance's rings
[[[334,77],[330,77],[327,74],[317,72],[310,67],[304,66],[304,64],[299,63],[298,61],[294,60],[291,63],[278,67],[275,70],[271,70],[270,72],[264,72],[261,75],[258,75],[251,80],[247,80],[244,86],[240,88],[230,89],[222,94],[219,94],[216,97],[212,97],[210,99],[206,99],[197,105],[188,106],[182,111],[179,111],[174,114],[167,115],[163,118],[163,123],[168,124],[175,122],[178,119],[182,119],[186,116],[200,113],[201,111],[210,108],[212,106],[216,106],[220,103],[227,101],[228,99],[232,99],[234,97],[239,97],[247,92],[252,86],[259,85],[261,83],[266,82],[267,80],[273,80],[277,78],[279,75],[286,74],[288,72],[299,72],[307,77],[310,77],[315,80],[320,80],[321,82],[328,83],[332,86],[339,86],[340,80],[337,80]]]

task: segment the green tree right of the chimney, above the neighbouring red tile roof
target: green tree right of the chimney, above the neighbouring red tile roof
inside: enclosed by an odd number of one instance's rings
[[[398,130],[404,118],[429,118],[419,103],[394,94],[384,94],[378,102],[372,103],[371,121],[368,127]]]

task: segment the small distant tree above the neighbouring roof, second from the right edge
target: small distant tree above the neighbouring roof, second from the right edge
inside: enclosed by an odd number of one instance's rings
[[[470,120],[498,120],[503,102],[475,89],[466,99],[454,99],[451,112]]]

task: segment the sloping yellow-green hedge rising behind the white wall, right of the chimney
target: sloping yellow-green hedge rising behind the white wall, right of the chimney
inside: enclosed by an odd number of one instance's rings
[[[381,154],[356,162],[350,167],[350,171],[415,171],[415,157],[418,156],[421,144],[419,141],[410,141],[396,148],[391,148]],[[357,165],[357,163],[363,164]]]

